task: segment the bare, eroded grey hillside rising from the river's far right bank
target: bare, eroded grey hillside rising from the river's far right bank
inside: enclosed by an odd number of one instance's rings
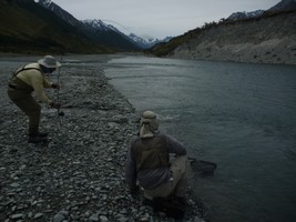
[[[296,64],[296,10],[207,23],[150,52],[180,59]]]

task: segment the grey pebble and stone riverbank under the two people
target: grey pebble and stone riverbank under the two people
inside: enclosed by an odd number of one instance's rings
[[[172,221],[125,186],[125,152],[139,113],[109,84],[105,61],[64,63],[62,89],[48,91],[64,117],[42,104],[41,131],[50,143],[29,145],[28,120],[6,93],[9,73],[27,62],[0,59],[0,221]],[[184,221],[204,221],[190,189],[187,196]]]

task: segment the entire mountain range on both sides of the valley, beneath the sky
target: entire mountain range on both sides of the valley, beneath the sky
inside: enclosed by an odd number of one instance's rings
[[[296,0],[282,0],[266,11],[235,12],[220,22],[205,23],[164,40],[144,39],[134,33],[126,36],[102,20],[80,21],[51,0],[0,0],[0,8],[1,52],[43,53],[45,49],[59,53],[112,53],[146,49],[146,53],[160,57],[235,60],[235,53],[241,50],[236,47],[246,46],[248,51],[244,54],[253,53],[253,58],[263,61],[264,56],[251,49],[264,44],[269,47],[264,53],[272,54],[276,61],[284,58],[277,58],[274,52],[280,47],[290,50],[289,59],[296,54],[290,43],[296,42],[292,19]],[[232,59],[227,57],[228,51],[217,57],[226,47],[233,50],[228,50],[234,54]]]

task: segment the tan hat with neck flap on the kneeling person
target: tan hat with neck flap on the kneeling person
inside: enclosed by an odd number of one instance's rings
[[[140,138],[152,138],[159,130],[159,121],[156,114],[152,111],[145,111],[140,122]]]

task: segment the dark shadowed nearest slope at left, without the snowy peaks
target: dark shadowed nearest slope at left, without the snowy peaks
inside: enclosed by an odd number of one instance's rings
[[[33,0],[1,0],[0,8],[1,52],[111,52]]]

